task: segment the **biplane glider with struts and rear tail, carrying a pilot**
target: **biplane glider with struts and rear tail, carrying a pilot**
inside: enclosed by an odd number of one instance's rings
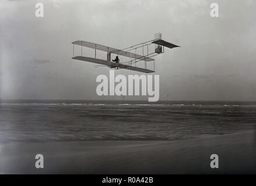
[[[77,60],[83,60],[85,62],[92,62],[100,64],[100,66],[107,66],[111,69],[128,69],[140,71],[143,73],[153,73],[155,72],[155,59],[153,56],[160,55],[164,53],[164,47],[167,48],[176,48],[177,45],[171,44],[162,40],[162,34],[155,34],[155,40],[146,41],[141,44],[134,45],[132,47],[124,49],[116,49],[107,47],[104,45],[96,44],[93,42],[87,41],[74,41],[73,44],[73,58]],[[75,45],[80,46],[80,55],[75,56]],[[153,46],[153,50],[152,50]],[[83,47],[94,49],[94,58],[89,56],[83,56]],[[107,60],[97,58],[97,50],[107,52]],[[117,55],[117,62],[111,61],[111,54]],[[122,56],[125,59],[119,60],[119,57]],[[127,60],[128,58],[128,60]],[[144,62],[145,67],[139,67],[138,62]],[[153,62],[153,70],[147,69],[147,63]],[[98,65],[99,66],[99,65]]]

